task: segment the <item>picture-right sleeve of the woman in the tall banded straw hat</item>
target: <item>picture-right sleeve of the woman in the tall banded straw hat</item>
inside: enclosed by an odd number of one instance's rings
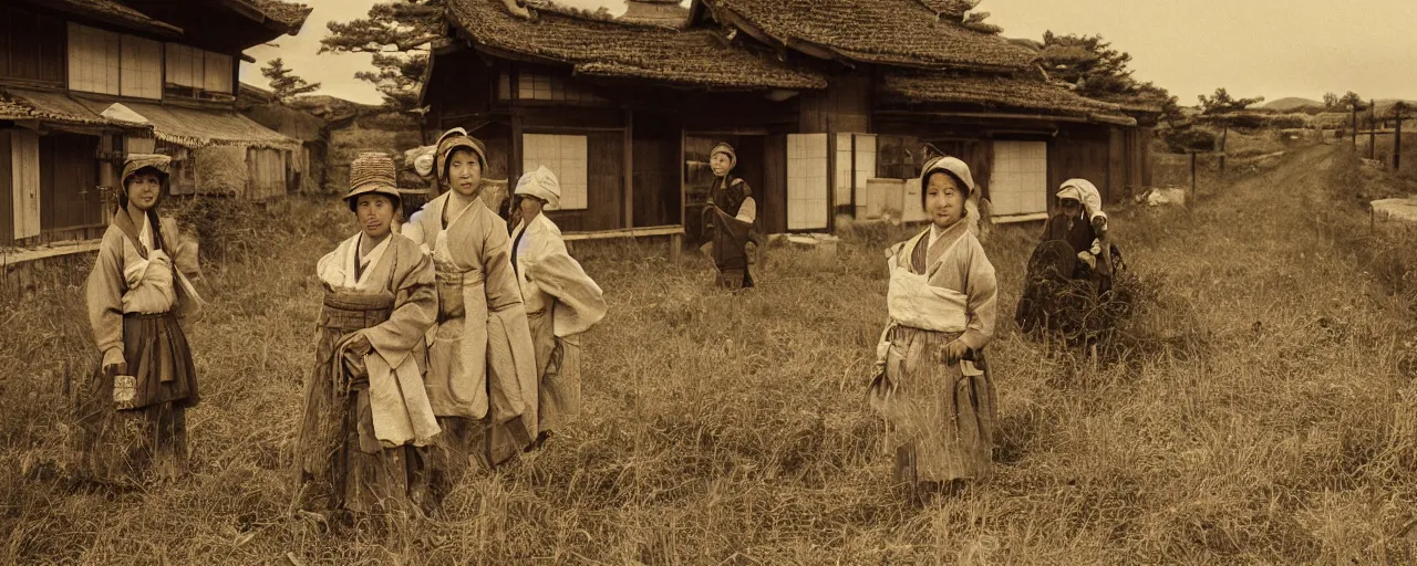
[[[404,357],[424,340],[438,317],[438,290],[432,260],[411,242],[398,243],[397,249],[388,250],[398,253],[398,270],[401,272],[394,275],[394,311],[387,321],[364,331],[370,345],[391,366],[398,366]],[[404,267],[405,265],[408,267]]]

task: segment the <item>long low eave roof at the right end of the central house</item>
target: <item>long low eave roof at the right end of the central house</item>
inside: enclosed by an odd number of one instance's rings
[[[989,108],[1017,108],[1125,122],[1122,108],[1080,96],[1064,86],[1015,76],[952,75],[941,72],[888,72],[881,92],[898,102],[962,103]]]

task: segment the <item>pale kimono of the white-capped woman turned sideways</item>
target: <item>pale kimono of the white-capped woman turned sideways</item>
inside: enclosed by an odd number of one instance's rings
[[[581,410],[581,334],[605,317],[605,297],[544,214],[519,224],[512,242],[540,376],[537,432],[548,433]]]

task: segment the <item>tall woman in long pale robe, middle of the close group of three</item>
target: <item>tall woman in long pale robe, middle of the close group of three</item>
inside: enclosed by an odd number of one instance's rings
[[[435,166],[451,190],[414,214],[404,233],[438,270],[427,381],[445,433],[432,458],[441,492],[472,458],[492,467],[531,443],[537,374],[507,224],[479,198],[486,150],[451,130],[438,140]]]

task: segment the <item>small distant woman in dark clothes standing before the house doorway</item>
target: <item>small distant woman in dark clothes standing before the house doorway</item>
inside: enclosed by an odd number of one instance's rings
[[[752,188],[733,174],[738,156],[733,146],[718,143],[708,151],[708,168],[714,181],[710,188],[708,208],[713,222],[713,260],[718,267],[717,284],[724,289],[752,287],[752,273],[748,270],[747,246],[752,238],[752,221],[758,218],[758,204],[752,200]]]

